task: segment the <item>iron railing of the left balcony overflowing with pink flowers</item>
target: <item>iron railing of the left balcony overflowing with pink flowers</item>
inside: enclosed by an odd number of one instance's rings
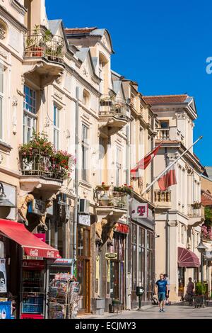
[[[20,169],[23,176],[43,176],[47,179],[63,181],[66,174],[64,169],[45,154],[20,155]]]

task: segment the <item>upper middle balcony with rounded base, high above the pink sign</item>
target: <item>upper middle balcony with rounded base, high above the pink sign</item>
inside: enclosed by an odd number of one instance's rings
[[[102,96],[100,99],[100,130],[110,136],[127,123],[128,106],[122,98]]]

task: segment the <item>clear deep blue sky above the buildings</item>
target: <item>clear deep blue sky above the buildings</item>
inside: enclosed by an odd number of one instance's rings
[[[66,28],[107,28],[115,54],[112,69],[139,83],[144,95],[194,96],[199,118],[194,151],[212,165],[212,2],[182,0],[46,0],[49,19],[62,18]]]

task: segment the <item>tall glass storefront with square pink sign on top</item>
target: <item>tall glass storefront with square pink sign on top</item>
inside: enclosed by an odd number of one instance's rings
[[[153,209],[148,204],[134,199],[131,217],[128,269],[131,273],[131,308],[133,308],[139,302],[136,296],[137,286],[142,286],[145,290],[143,304],[151,302],[155,278],[155,232]]]

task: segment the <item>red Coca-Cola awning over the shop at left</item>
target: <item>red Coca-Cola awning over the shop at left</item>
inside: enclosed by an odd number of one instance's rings
[[[18,222],[0,219],[0,232],[20,244],[28,256],[40,256],[49,259],[61,258],[57,249],[42,242]]]

